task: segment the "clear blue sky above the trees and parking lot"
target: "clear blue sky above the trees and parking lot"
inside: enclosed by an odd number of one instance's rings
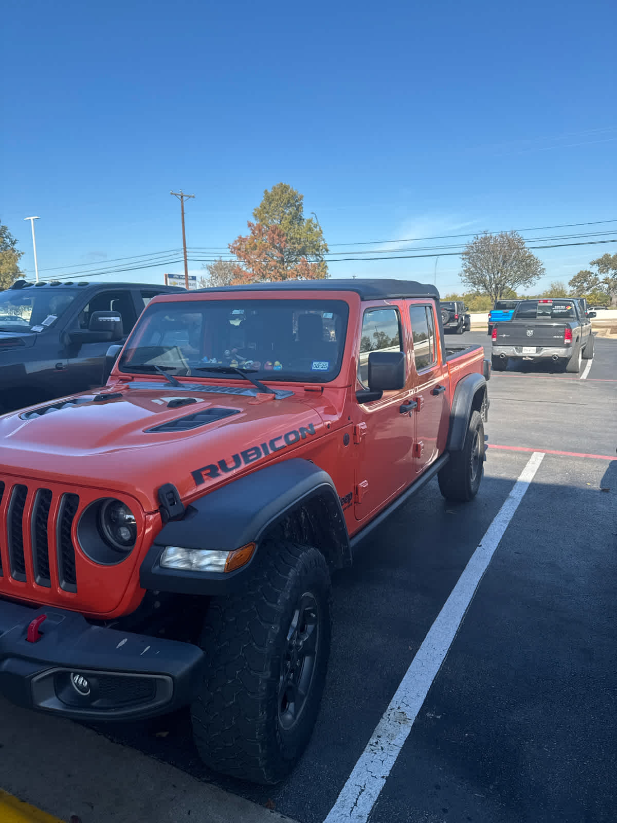
[[[33,271],[22,218],[40,216],[41,277],[179,249],[172,188],[196,195],[188,246],[208,249],[245,233],[280,181],[304,193],[333,252],[617,218],[612,0],[3,8],[0,219]],[[537,250],[548,283],[617,251],[604,242],[617,222],[523,234],[610,230],[597,245]],[[162,281],[166,270],[182,264],[99,279]],[[438,258],[442,293],[458,270],[457,257]],[[330,273],[432,281],[435,258]]]

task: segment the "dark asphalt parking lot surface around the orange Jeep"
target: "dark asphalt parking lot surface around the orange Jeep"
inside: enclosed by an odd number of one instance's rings
[[[489,350],[484,332],[452,342]],[[299,823],[614,821],[617,340],[596,338],[594,360],[579,376],[548,366],[494,373],[489,396],[488,460],[476,500],[446,504],[431,481],[364,542],[353,569],[336,576],[322,711],[290,779],[256,788],[208,773],[186,713],[93,732],[34,714],[26,721],[2,702],[2,788],[83,823],[224,819],[197,805],[190,815],[162,776],[133,781],[133,764],[143,770],[153,759],[180,770],[174,774],[190,781],[185,793],[207,783],[211,809],[229,804],[236,821],[261,821],[264,811]],[[517,507],[503,520],[515,486]],[[400,751],[387,760],[392,741],[384,740],[383,770],[367,770],[354,788],[350,774],[495,522],[505,523],[503,536]],[[19,734],[26,722],[27,743]],[[100,734],[119,744],[104,761],[105,786],[116,787],[111,805],[95,785],[99,750],[110,745]],[[46,765],[22,774],[22,750],[43,739]],[[151,806],[136,812],[135,794],[145,787]],[[364,793],[373,795],[368,805]]]

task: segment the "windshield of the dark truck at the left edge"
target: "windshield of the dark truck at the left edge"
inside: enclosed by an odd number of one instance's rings
[[[27,332],[35,327],[41,332],[56,322],[76,295],[76,290],[63,286],[58,291],[44,286],[0,291],[0,331]]]

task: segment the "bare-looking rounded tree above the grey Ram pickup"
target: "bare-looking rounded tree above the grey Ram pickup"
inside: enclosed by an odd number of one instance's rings
[[[517,231],[476,235],[461,257],[463,284],[491,300],[500,300],[519,286],[532,286],[545,272]]]

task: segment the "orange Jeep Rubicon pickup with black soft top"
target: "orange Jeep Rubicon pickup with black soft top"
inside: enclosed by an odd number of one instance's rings
[[[117,355],[0,417],[0,693],[190,706],[206,765],[274,783],[318,714],[331,573],[432,477],[476,495],[489,364],[444,345],[434,286],[360,279],[160,295]]]

